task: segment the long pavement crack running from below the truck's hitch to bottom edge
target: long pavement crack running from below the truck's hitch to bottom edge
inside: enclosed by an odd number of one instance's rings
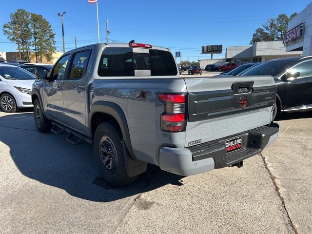
[[[277,176],[276,174],[273,173],[272,170],[270,170],[270,168],[272,168],[270,165],[269,165],[269,162],[267,161],[266,157],[262,155],[262,153],[259,153],[259,155],[261,156],[262,158],[262,161],[264,163],[264,166],[265,168],[267,169],[267,171],[269,172],[269,175],[273,181],[273,184],[275,186],[275,192],[276,194],[278,195],[278,197],[280,198],[281,202],[282,202],[282,206],[286,212],[286,215],[288,217],[288,221],[289,221],[289,224],[292,228],[292,231],[294,232],[294,234],[298,234],[298,231],[296,229],[296,227],[294,226],[293,222],[292,222],[292,219],[289,215],[289,212],[286,208],[286,203],[285,203],[285,198],[283,197],[282,193],[281,193],[281,187],[280,187],[280,183],[277,181]]]

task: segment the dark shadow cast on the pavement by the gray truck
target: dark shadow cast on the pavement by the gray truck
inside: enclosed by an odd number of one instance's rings
[[[110,202],[167,184],[183,185],[183,176],[148,165],[148,170],[134,183],[112,188],[101,178],[94,160],[93,146],[88,143],[75,146],[65,138],[65,134],[39,133],[33,113],[0,117],[0,141],[10,148],[9,154],[22,175],[65,190],[70,195]]]

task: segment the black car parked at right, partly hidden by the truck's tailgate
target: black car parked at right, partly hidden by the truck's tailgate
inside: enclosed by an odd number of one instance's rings
[[[282,112],[312,111],[312,57],[273,59],[240,76],[273,76],[277,96],[274,117]]]

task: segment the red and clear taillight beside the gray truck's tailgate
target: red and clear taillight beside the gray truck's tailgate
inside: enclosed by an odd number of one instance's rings
[[[177,133],[185,131],[186,127],[186,94],[157,94],[164,103],[164,113],[161,115],[161,130]]]

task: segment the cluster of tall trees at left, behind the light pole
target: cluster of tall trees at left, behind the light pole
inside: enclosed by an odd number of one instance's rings
[[[2,27],[4,35],[15,42],[25,52],[22,59],[31,61],[30,52],[35,51],[36,62],[42,62],[45,56],[48,61],[53,59],[56,50],[55,34],[51,25],[41,15],[18,9],[10,14],[10,21]]]

